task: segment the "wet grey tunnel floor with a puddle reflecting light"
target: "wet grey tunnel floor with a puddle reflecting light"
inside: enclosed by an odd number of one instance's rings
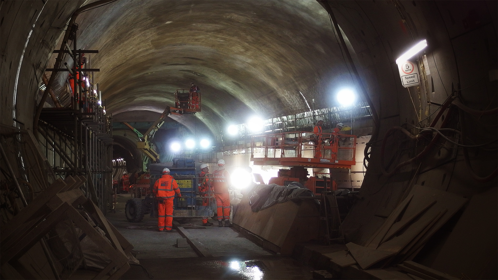
[[[190,246],[177,246],[177,240],[183,239],[177,230],[158,232],[157,219],[149,215],[129,223],[124,215],[127,199],[129,195],[120,195],[116,212],[107,218],[133,245],[135,257],[153,279],[312,279],[312,268],[259,247],[234,228],[202,227],[201,219],[175,222],[174,227],[184,227],[213,256],[198,257]],[[150,278],[140,266],[132,265],[121,279]]]

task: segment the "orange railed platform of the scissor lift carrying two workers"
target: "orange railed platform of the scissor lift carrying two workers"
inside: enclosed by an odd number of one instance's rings
[[[254,165],[351,168],[356,136],[338,133],[290,132],[253,136]]]

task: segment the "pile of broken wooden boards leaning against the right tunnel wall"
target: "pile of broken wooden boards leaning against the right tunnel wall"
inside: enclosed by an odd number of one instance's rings
[[[347,251],[327,257],[336,267],[352,266],[373,279],[458,279],[412,260],[466,202],[449,192],[414,185],[364,246],[350,242]]]

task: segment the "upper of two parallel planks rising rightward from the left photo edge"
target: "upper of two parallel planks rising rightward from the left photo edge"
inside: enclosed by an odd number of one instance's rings
[[[39,211],[40,209],[44,209],[45,203],[47,203],[54,195],[56,195],[65,185],[66,183],[63,180],[57,179],[40,195],[35,197],[33,201],[31,201],[31,203],[22,208],[21,211],[14,217],[12,217],[12,219],[8,221],[7,224],[2,225],[0,247],[19,226],[31,219],[32,216],[39,215]]]

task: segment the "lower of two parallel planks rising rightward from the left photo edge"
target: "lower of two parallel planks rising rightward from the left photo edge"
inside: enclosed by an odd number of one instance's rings
[[[11,259],[16,260],[26,253],[26,251],[47,234],[55,224],[64,218],[64,214],[69,208],[73,209],[68,203],[62,204],[59,208],[50,213],[42,222],[32,227],[29,232],[25,232],[17,239],[17,242],[9,246],[9,248],[2,247],[3,254],[1,255],[0,265],[3,266],[3,264]]]

